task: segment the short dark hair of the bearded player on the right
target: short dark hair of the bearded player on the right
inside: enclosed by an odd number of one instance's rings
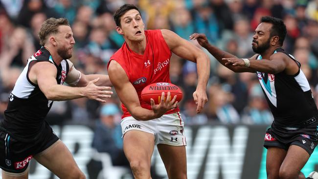
[[[279,44],[283,45],[286,34],[287,34],[286,25],[284,24],[283,20],[274,18],[271,16],[264,16],[262,17],[261,22],[267,22],[267,23],[273,24],[271,29],[271,37],[278,36]]]

